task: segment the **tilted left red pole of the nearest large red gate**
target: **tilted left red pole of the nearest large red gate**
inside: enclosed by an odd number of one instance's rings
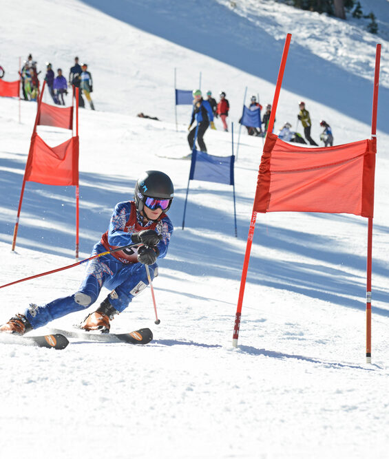
[[[282,78],[284,77],[286,58],[288,57],[288,50],[289,50],[289,45],[291,43],[291,38],[292,38],[292,34],[287,34],[286,35],[285,45],[284,45],[284,52],[282,52],[280,70],[278,72],[277,85],[275,86],[273,105],[271,107],[269,126],[268,126],[268,129],[267,129],[268,134],[269,134],[269,132],[273,131],[273,125],[274,125],[274,120],[275,120],[275,111],[277,110],[278,98],[280,97]],[[267,136],[267,134],[266,134],[266,136]],[[266,145],[266,142],[265,142],[265,145]],[[259,175],[259,173],[258,173],[258,175]],[[256,194],[257,193],[255,192],[255,195]],[[255,204],[255,200],[254,200],[254,204]],[[249,237],[247,238],[247,244],[246,244],[246,253],[244,254],[242,278],[240,279],[238,307],[236,309],[235,325],[234,325],[234,328],[233,328],[232,345],[233,345],[234,348],[238,347],[238,337],[239,337],[239,328],[240,328],[240,317],[242,316],[242,303],[243,303],[244,287],[246,285],[247,270],[249,268],[251,245],[253,244],[255,220],[257,220],[257,212],[255,211],[255,208],[253,207],[253,214],[251,215],[251,222],[250,222],[250,228],[249,228]]]

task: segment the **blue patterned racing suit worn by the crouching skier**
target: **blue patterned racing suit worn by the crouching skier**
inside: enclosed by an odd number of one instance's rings
[[[109,229],[95,244],[92,255],[106,252],[116,246],[132,244],[132,233],[138,233],[143,229],[155,229],[162,235],[158,243],[158,258],[165,257],[173,225],[167,215],[162,213],[158,222],[143,223],[143,217],[136,211],[134,202],[119,202],[116,204],[109,222]],[[63,317],[70,312],[89,308],[101,291],[106,287],[112,290],[109,295],[109,303],[118,311],[127,308],[132,299],[149,284],[145,265],[137,261],[138,246],[133,246],[116,253],[102,255],[87,262],[85,277],[80,288],[73,295],[55,299],[42,306],[30,304],[23,313],[32,328],[42,327],[46,323]],[[149,266],[151,279],[158,275],[158,265]]]

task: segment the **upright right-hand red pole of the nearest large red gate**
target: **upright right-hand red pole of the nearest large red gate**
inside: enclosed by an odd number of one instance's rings
[[[374,91],[372,96],[371,138],[377,145],[377,105],[379,87],[379,62],[381,45],[377,44],[375,52]],[[372,217],[368,217],[368,257],[366,264],[366,362],[371,363],[371,275],[372,275]]]

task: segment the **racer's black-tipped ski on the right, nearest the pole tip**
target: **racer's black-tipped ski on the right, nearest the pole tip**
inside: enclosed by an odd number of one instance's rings
[[[147,344],[153,339],[153,332],[149,328],[140,328],[140,330],[129,333],[96,333],[81,330],[61,330],[59,328],[54,328],[51,331],[67,338],[85,339],[100,343]]]

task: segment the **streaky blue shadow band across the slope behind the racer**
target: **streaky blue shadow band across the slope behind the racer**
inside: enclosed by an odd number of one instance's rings
[[[25,159],[3,160],[1,188],[8,192],[2,197],[3,213],[0,217],[0,240],[11,244],[14,222]],[[19,169],[12,171],[12,169]],[[101,235],[107,230],[109,217],[117,202],[131,199],[134,181],[126,177],[81,173],[80,175],[80,250],[89,254]],[[184,208],[185,189],[176,190],[174,205],[169,216],[176,231],[169,250],[170,257],[162,259],[160,266],[187,273],[196,277],[210,276],[239,282],[242,273],[244,249],[249,230],[249,215],[239,217],[238,235],[233,237],[233,216],[220,209],[199,206],[198,193],[191,190],[187,208],[187,228],[180,228]],[[230,191],[213,191],[216,198]],[[74,252],[75,242],[75,191],[73,186],[47,186],[28,182],[19,223],[18,248],[35,248],[43,253],[58,255]],[[237,206],[249,198],[238,196]],[[350,232],[360,220],[346,215],[326,215],[328,219],[348,219]],[[191,226],[196,225],[196,231]],[[364,310],[366,294],[366,257],[342,250],[341,244],[334,246],[330,237],[321,234],[303,233],[257,223],[254,244],[260,246],[264,257],[252,254],[247,280],[253,284],[280,290],[297,292],[307,297],[330,301],[334,304]],[[355,226],[354,226],[355,227]],[[376,227],[388,232],[384,226]],[[226,239],[229,237],[229,239]],[[284,253],[305,257],[304,261],[286,261],[266,256],[267,250],[276,249]],[[312,261],[310,261],[312,260]],[[330,266],[328,266],[330,265]],[[374,273],[388,277],[386,262],[374,260]],[[360,275],[350,273],[350,268]],[[37,270],[39,271],[39,270]],[[164,274],[169,277],[169,273]],[[355,298],[361,298],[358,301]],[[373,288],[376,300],[389,302],[388,290]],[[373,312],[389,317],[389,311],[373,306]]]

